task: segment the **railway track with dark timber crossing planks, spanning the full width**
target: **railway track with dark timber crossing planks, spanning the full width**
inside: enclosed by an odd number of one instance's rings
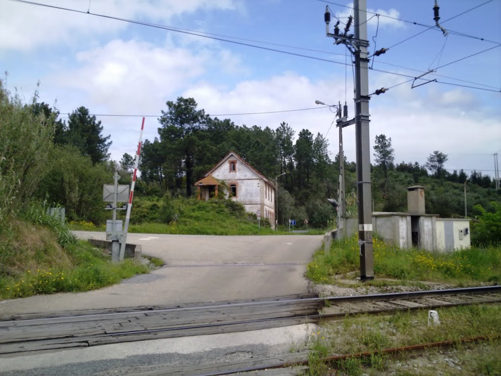
[[[501,302],[501,286],[318,298],[312,295],[0,321],[0,354],[257,330],[347,314]]]

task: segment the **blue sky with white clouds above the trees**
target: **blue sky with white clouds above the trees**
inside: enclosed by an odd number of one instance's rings
[[[346,101],[349,118],[354,115],[352,55],[326,36],[324,22],[328,6],[330,32],[337,19],[344,28],[352,2],[38,4],[70,10],[0,0],[2,79],[26,102],[37,91],[38,101],[57,108],[63,120],[87,107],[102,122],[103,135],[111,135],[114,160],[135,155],[141,116],[147,116],[143,140],[158,136],[161,111],[180,96],[236,125],[276,129],[286,122],[296,136],[302,129],[320,133],[332,159],[338,152],[335,114],[315,100]],[[439,0],[447,36],[432,28],[433,5],[367,2],[369,52],[389,48],[369,62],[369,93],[389,88],[370,99],[371,147],[376,135],[385,134],[396,163],[424,164],[439,150],[448,155],[449,172],[475,169],[494,176],[494,153],[501,153],[501,0]],[[413,77],[425,72],[414,83],[423,85],[412,88]],[[343,129],[343,140],[354,161],[354,126]]]

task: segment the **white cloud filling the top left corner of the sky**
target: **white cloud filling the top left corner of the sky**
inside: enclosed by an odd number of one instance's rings
[[[74,13],[4,1],[0,13],[0,50],[21,50],[75,42],[75,38],[109,36],[130,24],[85,14],[89,3],[81,0],[46,0],[46,4],[78,10]],[[168,22],[174,16],[197,10],[238,11],[239,0],[92,0],[91,13],[147,22]]]

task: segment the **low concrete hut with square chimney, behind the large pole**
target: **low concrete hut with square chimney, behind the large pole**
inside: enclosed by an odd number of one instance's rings
[[[426,214],[424,186],[407,188],[408,213],[372,213],[372,229],[386,242],[400,248],[418,247],[427,251],[453,251],[470,247],[468,219],[442,219]],[[355,234],[357,219],[346,221],[348,235]]]

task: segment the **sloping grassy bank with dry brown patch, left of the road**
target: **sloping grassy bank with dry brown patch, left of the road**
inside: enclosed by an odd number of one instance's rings
[[[88,291],[147,273],[144,265],[110,255],[76,240],[43,207],[10,223],[0,234],[0,298]]]

